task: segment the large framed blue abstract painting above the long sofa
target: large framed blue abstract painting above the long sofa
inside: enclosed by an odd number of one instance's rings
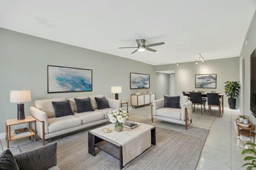
[[[92,91],[92,70],[47,66],[48,93]]]

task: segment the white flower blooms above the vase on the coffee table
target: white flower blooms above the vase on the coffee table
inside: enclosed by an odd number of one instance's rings
[[[111,123],[124,123],[128,119],[128,113],[124,110],[124,107],[108,112],[108,118]]]

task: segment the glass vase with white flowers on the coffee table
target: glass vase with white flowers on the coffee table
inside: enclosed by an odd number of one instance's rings
[[[115,124],[115,131],[122,132],[123,123],[128,119],[128,113],[124,110],[124,107],[108,112],[108,118],[111,123]]]

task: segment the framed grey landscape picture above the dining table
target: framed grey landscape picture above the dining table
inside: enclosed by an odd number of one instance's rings
[[[217,74],[196,74],[196,88],[216,88]]]

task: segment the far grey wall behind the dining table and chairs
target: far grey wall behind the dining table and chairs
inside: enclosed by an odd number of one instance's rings
[[[155,66],[156,71],[175,70],[175,95],[182,91],[216,91],[224,93],[224,82],[239,81],[239,57],[228,59],[206,60],[189,63],[166,64]],[[217,74],[217,88],[195,88],[195,74]],[[177,86],[179,84],[179,86]],[[238,106],[238,105],[237,105]],[[224,107],[228,107],[228,99],[224,96]]]

